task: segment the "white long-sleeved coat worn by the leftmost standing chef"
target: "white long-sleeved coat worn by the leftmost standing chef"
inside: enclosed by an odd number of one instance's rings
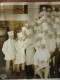
[[[7,41],[5,41],[3,44],[2,51],[5,55],[5,60],[15,59],[15,40],[9,38]]]

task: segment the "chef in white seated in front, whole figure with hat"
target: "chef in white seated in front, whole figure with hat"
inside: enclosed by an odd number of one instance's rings
[[[37,44],[39,45],[39,44]],[[49,58],[50,53],[48,48],[46,47],[46,40],[41,41],[41,47],[37,48],[35,56],[34,56],[34,65],[36,65],[36,72],[43,78],[48,78],[49,75]],[[44,71],[43,71],[44,70]]]

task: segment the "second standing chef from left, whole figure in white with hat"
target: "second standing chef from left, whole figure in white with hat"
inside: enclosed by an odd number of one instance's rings
[[[18,41],[15,43],[16,48],[16,59],[15,64],[17,64],[17,72],[20,71],[20,64],[22,65],[22,70],[25,69],[25,36],[22,32],[17,33]]]

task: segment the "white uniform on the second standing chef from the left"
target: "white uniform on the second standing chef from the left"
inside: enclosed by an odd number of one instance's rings
[[[17,41],[15,43],[15,48],[16,48],[16,60],[15,64],[22,64],[25,63],[25,43],[24,41]]]

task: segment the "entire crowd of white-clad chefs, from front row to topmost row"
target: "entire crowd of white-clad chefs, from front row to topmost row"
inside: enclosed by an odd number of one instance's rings
[[[6,60],[6,71],[10,71],[10,62],[13,71],[25,70],[25,65],[34,68],[34,74],[40,78],[48,78],[50,63],[56,67],[56,76],[60,70],[60,8],[55,7],[42,11],[34,22],[25,23],[14,40],[14,31],[8,32],[8,40],[3,44],[2,51]],[[27,68],[29,70],[29,67]],[[43,75],[44,73],[44,75]]]

